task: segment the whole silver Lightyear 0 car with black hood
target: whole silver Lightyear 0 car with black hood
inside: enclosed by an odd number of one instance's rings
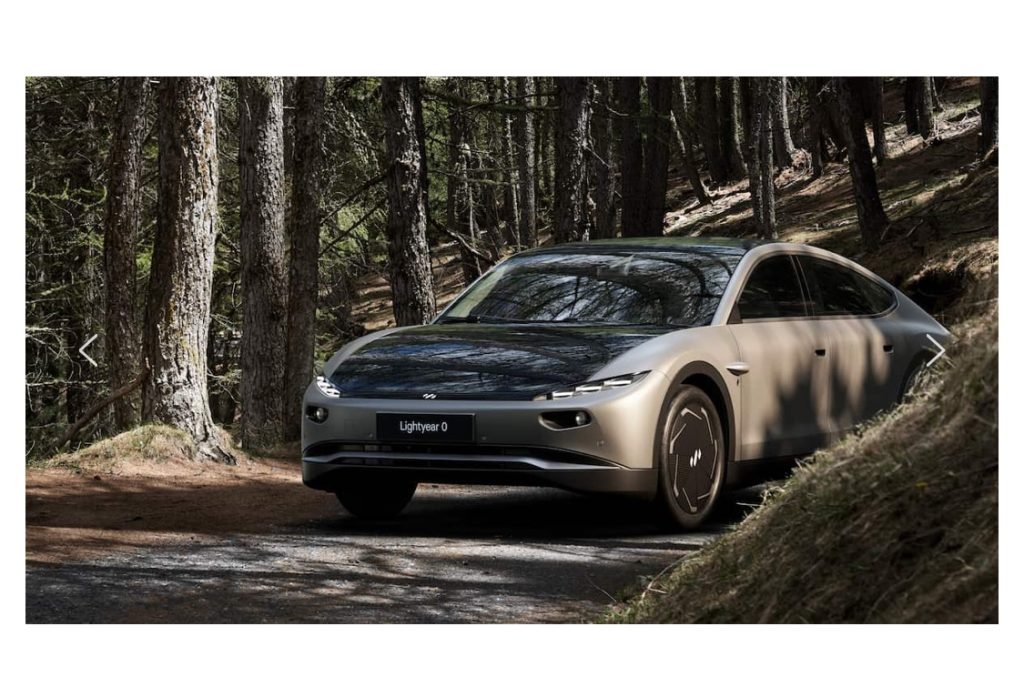
[[[335,353],[305,394],[302,477],[364,517],[424,481],[542,484],[653,500],[692,528],[723,488],[896,403],[948,337],[809,246],[526,251],[431,324]]]

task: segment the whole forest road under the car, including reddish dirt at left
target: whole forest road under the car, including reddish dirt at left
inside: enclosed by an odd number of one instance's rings
[[[369,523],[287,473],[28,486],[29,622],[585,621],[758,499],[667,534],[640,504],[553,489],[421,485]]]

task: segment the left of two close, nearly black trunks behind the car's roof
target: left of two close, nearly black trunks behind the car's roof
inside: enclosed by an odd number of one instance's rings
[[[640,135],[640,79],[615,79],[615,102],[621,117],[620,188],[623,237],[641,235],[643,225],[643,138]]]

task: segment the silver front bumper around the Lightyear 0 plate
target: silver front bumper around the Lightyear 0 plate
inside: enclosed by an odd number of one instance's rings
[[[346,475],[389,473],[416,481],[650,497],[657,486],[654,437],[667,391],[668,381],[658,373],[621,389],[543,401],[331,398],[311,385],[304,403],[327,409],[328,418],[317,423],[303,413],[302,479],[334,490]],[[591,422],[552,429],[541,414],[555,411],[585,411]],[[475,441],[382,442],[376,436],[377,413],[471,413]]]

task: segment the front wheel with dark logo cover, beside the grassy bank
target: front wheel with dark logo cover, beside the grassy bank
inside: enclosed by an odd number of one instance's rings
[[[714,510],[728,459],[722,421],[703,391],[684,384],[658,429],[657,507],[676,529],[695,529]]]

